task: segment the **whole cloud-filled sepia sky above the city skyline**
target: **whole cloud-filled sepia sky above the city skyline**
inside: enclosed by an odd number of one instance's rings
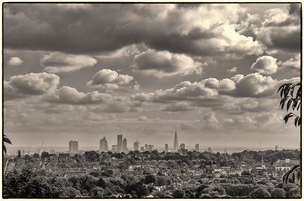
[[[14,146],[299,145],[300,4],[5,4]]]

